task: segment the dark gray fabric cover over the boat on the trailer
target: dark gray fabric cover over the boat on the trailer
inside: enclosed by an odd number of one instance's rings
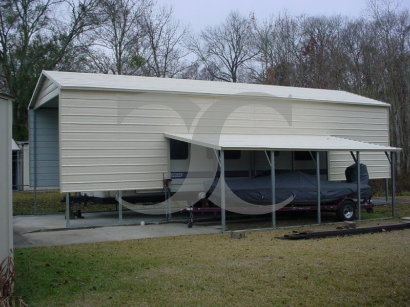
[[[367,176],[368,178],[368,176]],[[250,203],[272,202],[272,180],[270,171],[254,178],[226,178],[230,191],[226,197],[236,194],[240,199]],[[210,192],[220,196],[220,188],[217,186],[218,179],[213,181]],[[205,184],[205,186],[209,186]],[[292,203],[310,203],[317,201],[316,176],[306,174],[298,170],[275,171],[276,203],[285,201],[294,196]],[[343,199],[347,196],[357,197],[357,183],[333,182],[320,180],[320,198],[322,202],[331,202]],[[371,197],[372,191],[367,182],[361,182],[361,198]]]

